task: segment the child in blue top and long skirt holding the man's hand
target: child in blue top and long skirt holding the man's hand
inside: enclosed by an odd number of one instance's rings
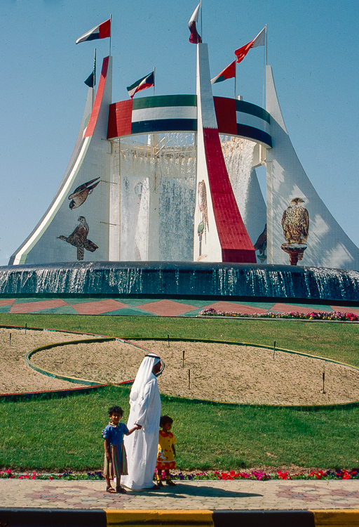
[[[136,425],[129,430],[126,424],[120,422],[122,416],[123,410],[121,406],[111,406],[109,408],[110,422],[102,430],[102,438],[104,438],[104,477],[107,483],[106,492],[111,494],[115,492],[121,494],[126,493],[126,490],[120,484],[121,476],[128,474],[123,435],[129,436],[135,430],[141,428]],[[116,491],[111,487],[111,479],[114,478],[116,478]]]

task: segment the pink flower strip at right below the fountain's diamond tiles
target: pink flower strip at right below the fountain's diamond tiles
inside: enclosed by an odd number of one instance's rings
[[[341,313],[341,311],[312,311],[311,313],[237,313],[236,311],[219,311],[215,308],[206,308],[199,313],[202,316],[217,317],[246,317],[246,318],[302,318],[305,320],[345,320],[346,322],[358,322],[359,316],[354,313]]]

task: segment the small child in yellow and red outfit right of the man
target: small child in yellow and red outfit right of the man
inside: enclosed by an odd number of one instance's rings
[[[157,453],[157,485],[163,487],[162,483],[162,471],[165,471],[165,482],[167,485],[172,487],[176,486],[173,483],[170,476],[170,469],[176,468],[175,456],[175,443],[177,440],[175,436],[170,432],[172,428],[173,419],[168,415],[162,415],[160,419],[160,427],[162,430],[158,436],[158,453]]]

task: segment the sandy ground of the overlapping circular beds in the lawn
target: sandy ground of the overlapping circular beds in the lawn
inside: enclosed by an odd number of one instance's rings
[[[12,332],[12,345],[8,346]],[[50,390],[79,386],[50,379],[27,367],[23,356],[41,344],[86,335],[0,330],[0,392]],[[205,342],[133,341],[165,360],[158,378],[161,393],[231,403],[315,405],[348,403],[359,398],[359,371],[291,353]],[[182,356],[184,351],[184,367]],[[120,341],[69,344],[40,351],[32,362],[51,372],[101,383],[133,379],[146,352]],[[315,354],[315,350],[313,350]],[[189,370],[191,385],[189,387]],[[323,388],[325,371],[325,393]]]

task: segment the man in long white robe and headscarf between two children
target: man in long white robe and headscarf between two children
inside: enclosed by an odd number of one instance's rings
[[[133,490],[159,488],[154,484],[157,460],[158,430],[161,417],[161,398],[155,373],[161,370],[161,358],[150,353],[137,372],[130,392],[128,427],[142,427],[136,434],[124,437],[128,476],[121,483]]]

